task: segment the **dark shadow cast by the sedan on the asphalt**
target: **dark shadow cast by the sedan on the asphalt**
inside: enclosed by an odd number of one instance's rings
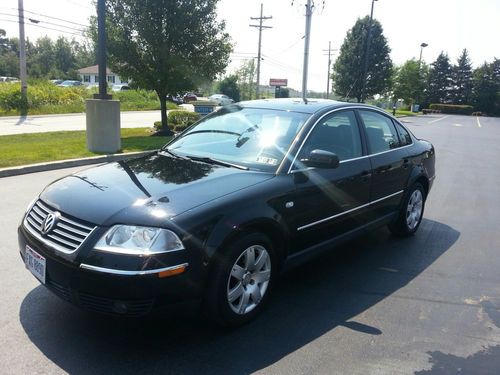
[[[424,219],[412,238],[381,229],[351,241],[283,275],[263,314],[235,330],[189,314],[146,320],[95,316],[42,286],[23,300],[20,322],[38,349],[70,374],[247,374],[338,327],[383,335],[354,317],[418,277],[459,236],[448,225]]]

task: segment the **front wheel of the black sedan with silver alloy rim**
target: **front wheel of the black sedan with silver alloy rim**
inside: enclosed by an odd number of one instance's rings
[[[270,298],[277,262],[271,241],[248,233],[231,242],[215,259],[203,308],[226,327],[254,319]]]

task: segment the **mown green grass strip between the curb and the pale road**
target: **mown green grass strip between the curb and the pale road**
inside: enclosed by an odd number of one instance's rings
[[[170,139],[151,134],[150,128],[121,129],[121,151],[154,150]],[[86,142],[85,131],[0,136],[0,168],[99,155]]]

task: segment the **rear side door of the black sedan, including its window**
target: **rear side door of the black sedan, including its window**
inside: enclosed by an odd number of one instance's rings
[[[410,174],[408,148],[400,142],[389,116],[358,110],[373,170],[370,202],[373,218],[398,209]]]

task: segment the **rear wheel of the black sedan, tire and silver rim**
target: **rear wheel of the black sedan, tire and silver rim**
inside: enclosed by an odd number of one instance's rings
[[[413,184],[403,200],[397,219],[389,224],[389,230],[401,237],[415,234],[424,216],[425,198],[424,187],[418,182]]]

